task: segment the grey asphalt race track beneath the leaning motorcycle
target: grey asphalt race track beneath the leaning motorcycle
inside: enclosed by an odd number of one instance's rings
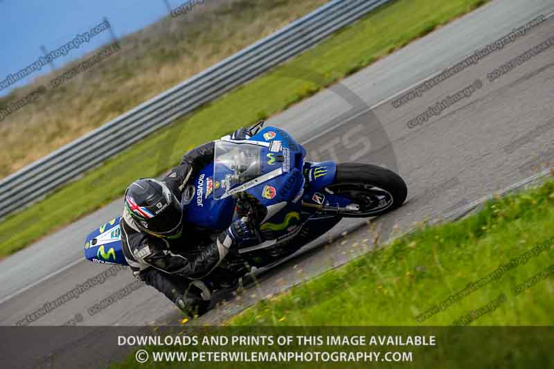
[[[381,163],[396,170],[408,185],[408,201],[370,225],[341,222],[329,237],[310,244],[301,255],[260,273],[244,294],[220,304],[202,323],[224,321],[260,298],[346,262],[371,247],[376,233],[384,240],[391,232],[407,231],[413,222],[440,217],[552,162],[554,39],[549,48],[494,81],[488,75],[552,39],[554,18],[548,16],[553,12],[553,0],[493,1],[271,118],[269,125],[283,127],[305,143],[310,159]],[[526,35],[401,107],[393,107],[392,101],[403,91],[540,15],[545,20]],[[310,71],[287,71],[283,78],[318,76]],[[466,93],[461,100],[413,124],[430,106],[458,91]],[[92,228],[120,214],[121,208],[121,201],[114,201],[3,260],[1,324],[15,325],[44,303],[109,269],[83,260],[82,243]],[[348,237],[341,235],[345,231]],[[128,287],[126,291],[134,290],[91,314],[94,304],[133,282],[129,271],[112,269],[104,282],[30,325],[179,324],[181,317],[172,303],[142,285]],[[71,345],[60,343],[60,357],[69,357],[64,348]],[[48,350],[53,348],[45,348],[42,354]]]

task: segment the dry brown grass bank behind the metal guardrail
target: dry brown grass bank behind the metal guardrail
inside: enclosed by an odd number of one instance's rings
[[[163,18],[124,36],[118,40],[120,47],[109,51],[109,57],[87,66],[71,80],[59,86],[57,82],[51,84],[93,53],[0,96],[3,108],[39,86],[45,87],[39,99],[0,124],[0,178],[271,35],[327,1],[190,1],[193,7],[186,14]],[[173,5],[179,3],[187,1],[175,1]],[[125,12],[122,8],[119,11]],[[118,28],[114,24],[114,29]],[[75,33],[78,31],[81,30],[75,29]],[[30,135],[33,140],[29,140]]]

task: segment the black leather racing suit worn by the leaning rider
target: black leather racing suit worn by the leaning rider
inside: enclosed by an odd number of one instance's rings
[[[213,161],[213,151],[213,142],[196,147],[161,179],[179,201],[189,179],[192,181],[200,169]],[[184,230],[179,238],[159,238],[139,231],[132,217],[124,210],[121,239],[123,253],[134,276],[187,310],[199,300],[210,299],[210,289],[195,279],[206,276],[220,264],[229,252],[229,240],[226,240],[225,232],[213,240],[210,234],[195,229],[186,224],[186,219],[183,220]]]

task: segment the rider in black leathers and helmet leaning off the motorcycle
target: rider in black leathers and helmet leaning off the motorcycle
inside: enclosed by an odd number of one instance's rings
[[[238,129],[231,138],[249,138]],[[189,179],[213,161],[214,142],[196,147],[162,179],[139,179],[129,185],[124,196],[121,220],[123,255],[134,276],[158,289],[189,315],[203,314],[210,302],[212,287],[202,282],[210,273],[229,283],[221,263],[242,244],[256,244],[251,219],[240,217],[216,235],[187,223],[181,200],[188,196]],[[217,269],[217,271],[215,271]],[[232,282],[231,282],[232,283]]]

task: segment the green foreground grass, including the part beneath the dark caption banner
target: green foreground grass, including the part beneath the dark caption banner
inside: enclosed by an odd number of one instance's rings
[[[353,242],[351,240],[351,242]],[[528,258],[490,280],[431,318],[418,322],[425,310],[440,304],[468,283],[532,251]],[[422,225],[366,255],[327,271],[274,298],[261,300],[226,323],[225,327],[194,330],[173,328],[193,336],[237,335],[434,335],[434,347],[310,346],[264,348],[218,346],[147,347],[152,351],[378,351],[413,352],[402,368],[550,368],[554,331],[554,181],[539,188],[485,204],[461,221]],[[546,278],[533,276],[548,270]],[[517,289],[531,281],[526,289]],[[452,327],[461,316],[498,296],[503,303],[471,323]],[[364,327],[372,325],[373,327]],[[512,327],[506,327],[512,325]],[[394,327],[391,327],[394,326]],[[478,326],[478,327],[475,327]],[[519,327],[513,327],[519,326]],[[533,326],[533,327],[524,327]],[[542,326],[542,327],[537,327]],[[202,341],[201,341],[202,342]],[[134,368],[134,354],[110,368]],[[156,363],[151,368],[195,367],[197,363]],[[208,368],[279,368],[283,363],[206,363]],[[391,363],[371,363],[390,368]],[[287,363],[294,368],[367,367],[368,363]],[[396,366],[394,366],[396,367]]]

